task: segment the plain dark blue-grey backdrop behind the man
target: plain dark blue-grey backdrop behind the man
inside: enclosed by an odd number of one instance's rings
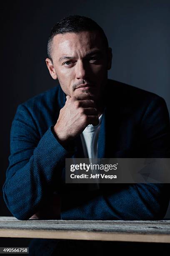
[[[18,0],[1,3],[1,216],[11,216],[3,201],[2,185],[16,108],[30,97],[56,86],[45,64],[47,38],[57,21],[73,14],[88,16],[104,29],[113,53],[109,78],[155,92],[165,99],[170,112],[170,1]],[[170,207],[165,218],[170,218]],[[8,239],[9,245],[12,240]],[[5,246],[6,240],[1,238],[0,246]],[[20,239],[18,246],[27,241],[29,239]]]

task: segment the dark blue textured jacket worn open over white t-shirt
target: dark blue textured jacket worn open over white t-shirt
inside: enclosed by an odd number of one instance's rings
[[[80,136],[70,148],[53,127],[65,105],[60,84],[20,104],[10,134],[3,196],[10,212],[28,220],[56,192],[63,220],[157,220],[165,216],[169,184],[65,184],[65,159],[82,157]],[[170,120],[163,98],[108,79],[98,157],[170,157]]]

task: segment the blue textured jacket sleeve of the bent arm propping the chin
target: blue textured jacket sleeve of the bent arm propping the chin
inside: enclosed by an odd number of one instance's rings
[[[8,209],[19,220],[28,220],[48,200],[60,180],[65,158],[74,152],[60,145],[52,128],[53,125],[40,138],[28,108],[24,104],[18,106],[2,190]]]

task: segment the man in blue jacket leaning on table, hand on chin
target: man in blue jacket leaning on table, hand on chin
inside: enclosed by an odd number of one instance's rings
[[[168,158],[170,122],[163,98],[107,79],[112,52],[102,28],[90,18],[61,20],[52,28],[47,50],[47,68],[59,84],[18,106],[3,186],[10,212],[20,220],[32,215],[164,218],[168,184],[100,184],[94,190],[65,184],[66,158]],[[92,127],[88,137],[85,130]]]

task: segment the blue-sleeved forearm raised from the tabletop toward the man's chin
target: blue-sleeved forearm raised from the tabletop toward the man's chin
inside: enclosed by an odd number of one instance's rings
[[[50,127],[27,164],[17,169],[12,176],[7,171],[3,195],[8,209],[16,218],[30,218],[52,196],[57,182],[60,182],[65,158],[72,154],[72,151],[67,151],[58,143]]]

